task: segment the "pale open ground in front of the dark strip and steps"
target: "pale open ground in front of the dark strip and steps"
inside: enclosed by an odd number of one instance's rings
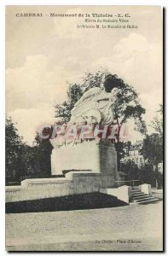
[[[6,214],[10,251],[162,250],[162,201],[67,212]]]

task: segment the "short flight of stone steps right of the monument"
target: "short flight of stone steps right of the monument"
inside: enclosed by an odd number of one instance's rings
[[[152,195],[144,194],[138,187],[131,190],[130,202],[135,202],[139,205],[150,204],[159,201],[158,198],[154,198]]]

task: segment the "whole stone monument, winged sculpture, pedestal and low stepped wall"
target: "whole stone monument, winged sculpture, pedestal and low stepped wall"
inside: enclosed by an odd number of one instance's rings
[[[70,122],[55,126],[59,132],[50,139],[53,177],[25,179],[20,186],[7,187],[6,201],[105,193],[115,187],[117,154],[108,128],[117,102],[116,80],[107,75],[103,88],[84,92],[72,109]]]

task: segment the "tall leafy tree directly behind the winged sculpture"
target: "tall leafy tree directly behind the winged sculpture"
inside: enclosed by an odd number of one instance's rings
[[[67,90],[67,101],[55,106],[55,117],[61,117],[66,123],[71,119],[71,110],[75,102],[84,94],[86,90],[93,87],[100,87],[103,83],[105,75],[109,73],[107,70],[99,70],[96,73],[85,73],[81,84],[70,84]],[[116,74],[113,78],[118,78]],[[136,131],[146,134],[146,124],[142,119],[145,109],[140,104],[136,90],[129,84],[125,84],[122,79],[117,80],[118,83],[118,99],[119,102],[115,108],[115,119],[117,122],[116,130],[116,149],[118,154],[118,163],[120,160],[119,141],[120,131],[123,124],[129,119],[134,119]]]

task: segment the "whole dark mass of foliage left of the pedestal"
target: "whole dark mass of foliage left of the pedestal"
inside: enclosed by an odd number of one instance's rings
[[[38,136],[31,147],[23,143],[11,118],[6,117],[6,184],[28,177],[49,177],[52,146]]]

